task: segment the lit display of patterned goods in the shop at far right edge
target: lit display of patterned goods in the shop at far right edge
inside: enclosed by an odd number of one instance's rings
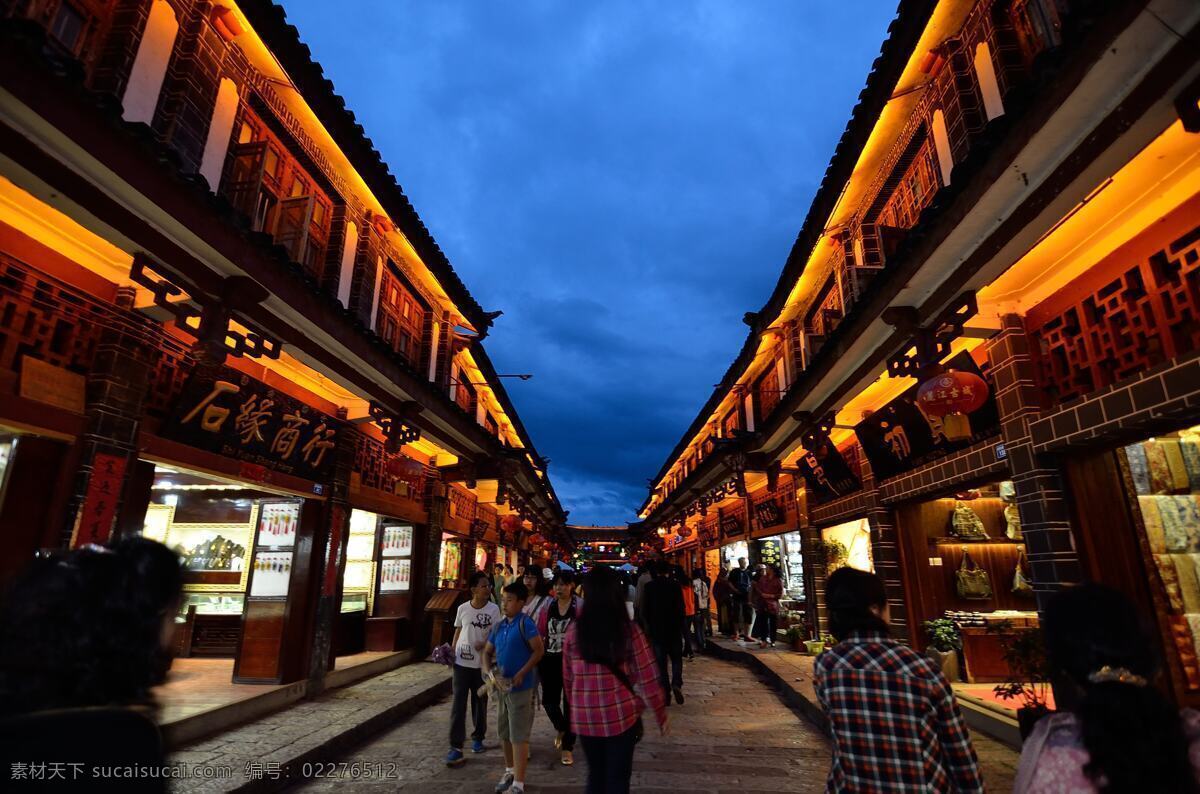
[[[1200,690],[1200,426],[1123,449],[1164,633],[1188,690]]]

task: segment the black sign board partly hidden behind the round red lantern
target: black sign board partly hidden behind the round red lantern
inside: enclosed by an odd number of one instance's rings
[[[960,353],[946,362],[946,366],[982,377],[968,353]],[[863,445],[863,452],[877,480],[894,477],[948,452],[971,446],[994,435],[1000,427],[996,397],[994,390],[989,389],[983,405],[967,414],[971,435],[950,440],[942,431],[941,417],[926,416],[918,407],[917,389],[918,386],[913,386],[854,426],[854,435]]]

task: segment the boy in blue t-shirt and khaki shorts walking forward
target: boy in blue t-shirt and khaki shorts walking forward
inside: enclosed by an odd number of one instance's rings
[[[522,794],[529,762],[529,732],[533,729],[533,692],[538,685],[534,669],[545,648],[533,618],[521,612],[529,590],[523,582],[504,588],[502,620],[492,628],[484,648],[484,674],[496,670],[499,694],[497,722],[504,745],[504,776],[496,790]]]

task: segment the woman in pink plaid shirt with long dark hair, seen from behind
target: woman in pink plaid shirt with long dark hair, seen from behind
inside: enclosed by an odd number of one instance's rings
[[[563,642],[563,682],[571,730],[588,759],[588,793],[628,792],[642,711],[654,710],[662,735],[666,694],[646,634],[625,612],[617,572],[598,566],[583,578],[587,603]]]

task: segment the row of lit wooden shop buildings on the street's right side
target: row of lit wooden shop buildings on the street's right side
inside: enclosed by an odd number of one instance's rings
[[[992,619],[1105,582],[1200,703],[1198,24],[1184,0],[901,2],[644,536],[796,533],[814,621],[829,567],[872,567],[914,644],[960,618],[978,681],[1008,672]]]

